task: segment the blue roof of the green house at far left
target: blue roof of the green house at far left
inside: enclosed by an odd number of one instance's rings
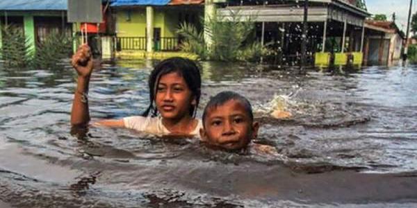
[[[67,10],[67,0],[1,0],[0,10]]]

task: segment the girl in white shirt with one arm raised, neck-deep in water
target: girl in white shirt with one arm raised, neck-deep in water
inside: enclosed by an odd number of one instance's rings
[[[93,69],[87,45],[80,46],[72,57],[78,73],[71,124],[85,126],[90,121],[88,85]],[[202,121],[195,119],[201,95],[199,68],[186,58],[168,58],[154,67],[149,76],[149,107],[141,116],[97,121],[95,125],[129,128],[152,135],[198,136]]]

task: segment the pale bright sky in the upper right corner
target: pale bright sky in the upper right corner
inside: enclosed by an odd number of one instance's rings
[[[398,28],[404,32],[407,30],[407,18],[409,13],[410,0],[366,0],[366,7],[371,14],[384,14],[391,20],[393,12]],[[413,1],[412,13],[417,12],[417,1]]]

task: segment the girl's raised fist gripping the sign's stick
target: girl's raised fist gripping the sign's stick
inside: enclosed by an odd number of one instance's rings
[[[72,55],[71,63],[79,76],[89,78],[93,68],[90,47],[87,44],[82,44],[78,51]]]

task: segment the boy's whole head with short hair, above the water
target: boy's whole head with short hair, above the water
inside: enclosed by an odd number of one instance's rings
[[[258,134],[252,106],[235,92],[220,92],[208,101],[203,113],[203,141],[228,150],[244,148]]]

